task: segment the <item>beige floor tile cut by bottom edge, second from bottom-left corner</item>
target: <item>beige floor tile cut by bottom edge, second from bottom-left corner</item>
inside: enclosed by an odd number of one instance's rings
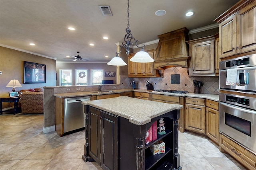
[[[8,170],[42,170],[51,160],[20,160]]]

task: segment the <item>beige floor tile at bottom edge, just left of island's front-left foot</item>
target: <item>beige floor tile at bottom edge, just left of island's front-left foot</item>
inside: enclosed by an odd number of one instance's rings
[[[76,170],[82,159],[53,159],[43,170]]]

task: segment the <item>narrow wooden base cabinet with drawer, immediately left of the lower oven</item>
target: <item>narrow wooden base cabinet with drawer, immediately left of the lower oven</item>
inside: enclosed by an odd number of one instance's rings
[[[219,143],[219,102],[206,99],[206,135]]]

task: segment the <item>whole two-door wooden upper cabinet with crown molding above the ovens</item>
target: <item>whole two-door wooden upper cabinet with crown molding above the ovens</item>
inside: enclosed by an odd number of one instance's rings
[[[220,58],[256,50],[256,1],[240,1],[215,20],[220,23]]]

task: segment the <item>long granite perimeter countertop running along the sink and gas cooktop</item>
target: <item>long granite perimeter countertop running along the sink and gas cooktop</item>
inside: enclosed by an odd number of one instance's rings
[[[58,93],[54,94],[54,96],[58,98],[74,98],[74,97],[82,97],[82,96],[94,96],[94,95],[102,95],[102,94],[114,94],[114,93],[123,93],[123,92],[146,92],[152,94],[163,94],[168,96],[182,96],[182,97],[193,97],[193,98],[204,98],[209,100],[214,100],[219,102],[219,95],[217,94],[196,94],[196,93],[186,93],[186,94],[178,94],[178,93],[165,93],[165,92],[152,92],[152,90],[146,89],[116,89],[116,90],[103,90],[101,93],[94,92],[73,92],[73,93]]]

